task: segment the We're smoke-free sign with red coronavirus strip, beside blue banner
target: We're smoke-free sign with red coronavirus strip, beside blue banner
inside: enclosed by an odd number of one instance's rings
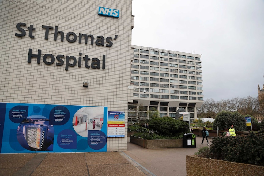
[[[125,137],[125,112],[108,112],[107,137]]]

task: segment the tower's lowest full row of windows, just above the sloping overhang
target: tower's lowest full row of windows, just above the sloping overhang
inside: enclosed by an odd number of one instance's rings
[[[155,94],[138,94],[133,93],[133,97],[140,97],[140,98],[160,98],[160,99],[182,99],[182,100],[188,100],[188,96],[177,96],[177,95],[155,95]],[[195,97],[195,96],[189,96],[189,100],[202,100],[202,97]]]

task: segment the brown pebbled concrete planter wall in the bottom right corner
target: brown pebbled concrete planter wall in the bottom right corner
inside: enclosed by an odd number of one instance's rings
[[[260,176],[264,175],[264,166],[235,163],[218,159],[186,156],[186,176]]]

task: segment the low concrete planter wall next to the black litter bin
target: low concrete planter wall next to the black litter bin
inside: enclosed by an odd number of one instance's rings
[[[143,139],[130,135],[131,143],[137,144],[144,148],[171,148],[171,147],[183,147],[183,139]]]

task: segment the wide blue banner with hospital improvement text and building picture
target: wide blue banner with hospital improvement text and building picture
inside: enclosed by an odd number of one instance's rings
[[[107,152],[107,110],[0,103],[0,153]]]

